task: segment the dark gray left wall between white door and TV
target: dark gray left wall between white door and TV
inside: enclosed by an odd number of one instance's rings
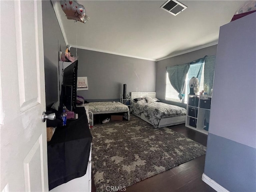
[[[58,56],[66,44],[52,2],[42,1],[46,105],[58,101]]]

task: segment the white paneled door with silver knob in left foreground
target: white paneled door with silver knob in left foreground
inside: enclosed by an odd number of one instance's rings
[[[0,191],[48,191],[41,1],[0,1]]]

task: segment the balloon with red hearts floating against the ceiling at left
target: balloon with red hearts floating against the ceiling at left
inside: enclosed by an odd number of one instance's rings
[[[60,6],[68,19],[73,19],[75,22],[80,21],[82,23],[86,23],[86,21],[89,20],[84,6],[74,0],[60,1]]]

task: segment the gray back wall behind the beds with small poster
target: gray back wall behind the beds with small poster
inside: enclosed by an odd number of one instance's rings
[[[76,53],[76,48],[71,48]],[[123,84],[126,94],[135,91],[155,92],[156,62],[126,56],[77,49],[78,76],[88,80],[88,90],[77,95],[85,100],[119,100]]]

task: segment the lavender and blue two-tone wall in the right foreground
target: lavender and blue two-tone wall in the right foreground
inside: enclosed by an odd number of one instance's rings
[[[229,191],[256,191],[255,34],[256,13],[220,28],[204,173]]]

